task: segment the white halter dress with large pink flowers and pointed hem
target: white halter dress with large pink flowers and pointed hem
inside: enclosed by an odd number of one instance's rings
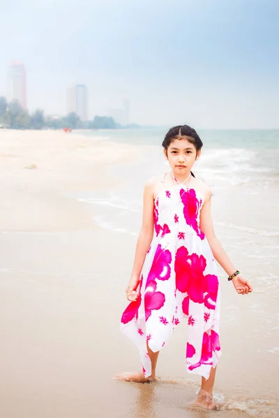
[[[140,350],[146,377],[151,375],[146,343],[153,352],[163,348],[183,318],[188,321],[189,373],[209,378],[221,355],[216,263],[199,229],[203,203],[197,190],[179,185],[161,190],[154,201],[155,233],[142,268],[140,297],[121,318],[121,330]]]

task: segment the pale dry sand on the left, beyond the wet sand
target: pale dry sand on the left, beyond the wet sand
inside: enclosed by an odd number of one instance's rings
[[[66,194],[115,187],[108,168],[138,153],[73,132],[1,130],[0,231],[96,228],[91,210]]]

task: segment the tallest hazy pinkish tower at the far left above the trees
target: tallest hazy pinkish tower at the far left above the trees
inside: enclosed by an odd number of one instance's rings
[[[11,62],[8,69],[8,100],[17,100],[23,109],[27,109],[26,73],[20,62]]]

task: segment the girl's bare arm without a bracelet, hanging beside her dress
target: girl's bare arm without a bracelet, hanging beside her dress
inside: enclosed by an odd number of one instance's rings
[[[126,289],[126,295],[129,299],[130,295],[137,289],[140,283],[140,272],[142,271],[142,265],[146,253],[150,247],[153,238],[154,228],[154,199],[153,199],[153,182],[150,180],[144,187],[144,205],[143,205],[143,217],[142,228],[140,230],[139,238],[137,239],[137,246],[135,249],[135,261],[133,265],[132,274],[128,287]],[[133,295],[133,300],[136,300],[138,293]]]

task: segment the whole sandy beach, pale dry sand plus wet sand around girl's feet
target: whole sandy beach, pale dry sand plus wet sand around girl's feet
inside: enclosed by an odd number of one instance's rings
[[[199,378],[184,367],[183,325],[160,354],[158,382],[112,379],[139,367],[137,350],[119,331],[137,237],[102,228],[95,219],[105,206],[73,196],[97,196],[120,185],[129,194],[129,169],[141,155],[140,146],[73,132],[0,130],[1,417],[209,416],[186,409]],[[138,176],[133,176],[135,184]],[[231,190],[222,193],[216,196],[216,214],[234,202]],[[253,199],[242,189],[235,214],[227,210],[226,215],[236,220]],[[272,253],[276,260],[271,239],[278,245],[278,238],[253,235],[251,245],[234,226],[224,229],[220,222],[216,231],[255,287],[248,303],[228,291],[220,271],[224,354],[216,378],[222,408],[216,415],[278,417],[278,278],[267,259],[262,270],[255,265],[259,253]]]

